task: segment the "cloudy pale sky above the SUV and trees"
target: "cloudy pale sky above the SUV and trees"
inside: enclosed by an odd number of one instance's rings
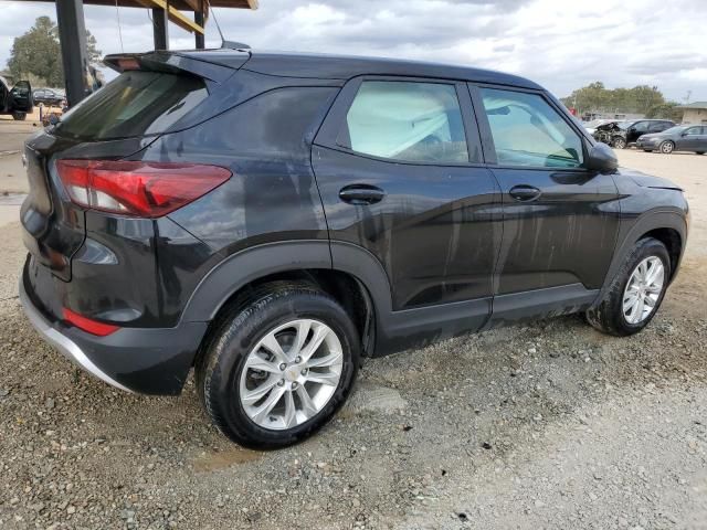
[[[226,39],[253,47],[431,60],[531,77],[558,96],[592,81],[657,85],[707,100],[705,0],[260,0],[257,11],[215,9]],[[53,3],[0,1],[0,67],[12,40]],[[120,52],[115,8],[85,8],[104,53]],[[146,9],[122,8],[123,49],[151,49]],[[8,23],[12,21],[12,23]],[[220,43],[213,19],[207,44]],[[170,24],[170,47],[193,47]]]

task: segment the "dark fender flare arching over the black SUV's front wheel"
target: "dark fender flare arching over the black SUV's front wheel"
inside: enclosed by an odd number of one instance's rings
[[[685,218],[685,212],[679,209],[648,210],[647,212],[640,215],[639,219],[625,233],[620,232],[614,257],[611,261],[611,265],[609,265],[609,271],[606,272],[604,284],[601,288],[601,293],[597,301],[603,298],[604,293],[611,285],[611,282],[621,267],[621,264],[624,262],[626,255],[635,246],[639,240],[641,240],[644,234],[658,229],[672,229],[679,234],[680,254],[678,256],[675,269],[672,272],[673,278],[675,277],[675,273],[677,272],[679,263],[683,258],[683,254],[685,253],[685,242],[687,240],[687,221]]]

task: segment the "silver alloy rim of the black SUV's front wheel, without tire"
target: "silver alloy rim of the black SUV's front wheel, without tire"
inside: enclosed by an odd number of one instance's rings
[[[626,322],[643,322],[655,310],[665,284],[665,266],[659,257],[648,256],[633,269],[623,293]]]

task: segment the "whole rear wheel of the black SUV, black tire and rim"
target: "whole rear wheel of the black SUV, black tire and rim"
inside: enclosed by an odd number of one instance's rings
[[[359,365],[356,326],[306,284],[266,284],[235,305],[197,367],[207,412],[233,442],[274,449],[324,426]]]

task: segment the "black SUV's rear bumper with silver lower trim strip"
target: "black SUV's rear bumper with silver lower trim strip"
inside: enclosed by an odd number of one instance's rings
[[[143,394],[181,392],[208,326],[122,328],[96,337],[42,311],[42,301],[27,282],[27,267],[20,279],[20,301],[32,326],[64,357],[106,383]]]

